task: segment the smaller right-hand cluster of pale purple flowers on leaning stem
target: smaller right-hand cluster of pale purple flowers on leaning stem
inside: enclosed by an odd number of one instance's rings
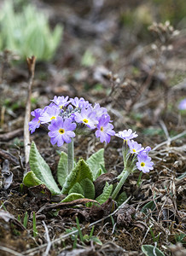
[[[131,172],[137,169],[146,173],[153,170],[154,163],[151,161],[151,157],[148,156],[150,147],[142,148],[142,145],[132,140],[138,135],[132,132],[131,129],[119,131],[115,136],[124,140],[124,163],[125,168],[131,170]]]

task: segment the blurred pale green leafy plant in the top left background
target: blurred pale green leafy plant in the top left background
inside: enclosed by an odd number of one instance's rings
[[[43,13],[27,4],[15,12],[13,1],[5,1],[0,11],[0,49],[9,49],[23,59],[35,55],[40,61],[49,61],[60,44],[62,26],[49,29]]]

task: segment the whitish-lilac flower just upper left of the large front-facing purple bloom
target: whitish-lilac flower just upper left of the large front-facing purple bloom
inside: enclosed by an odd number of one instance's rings
[[[39,118],[39,120],[41,121],[41,124],[48,123],[52,119],[56,119],[59,113],[60,109],[56,108],[55,105],[47,106],[46,108],[44,108],[44,113],[42,113],[42,116]]]

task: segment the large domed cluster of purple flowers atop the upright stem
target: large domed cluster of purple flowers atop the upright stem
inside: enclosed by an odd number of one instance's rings
[[[34,119],[29,122],[29,131],[33,133],[40,125],[46,126],[50,142],[53,145],[57,143],[58,147],[70,143],[79,126],[96,131],[96,137],[102,143],[109,143],[110,137],[115,134],[107,109],[98,103],[93,107],[83,97],[55,96],[49,106],[37,108],[31,114]]]

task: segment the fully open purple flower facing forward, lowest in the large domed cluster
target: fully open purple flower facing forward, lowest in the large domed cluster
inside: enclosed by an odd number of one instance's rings
[[[71,138],[76,136],[73,132],[76,129],[76,124],[72,123],[69,118],[62,119],[61,116],[58,116],[56,120],[52,119],[48,129],[50,142],[52,145],[57,143],[58,147],[61,147],[63,143],[71,143]]]

